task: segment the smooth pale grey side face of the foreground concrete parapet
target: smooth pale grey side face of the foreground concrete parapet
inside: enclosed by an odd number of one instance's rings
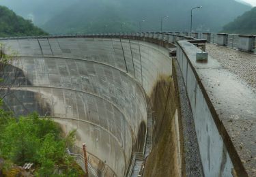
[[[178,42],[177,61],[190,99],[203,172],[205,176],[232,176],[233,163],[191,64],[195,63],[195,53],[200,51],[193,44]]]

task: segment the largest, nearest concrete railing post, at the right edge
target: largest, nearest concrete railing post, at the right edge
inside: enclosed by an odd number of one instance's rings
[[[239,50],[253,51],[253,35],[239,35]]]

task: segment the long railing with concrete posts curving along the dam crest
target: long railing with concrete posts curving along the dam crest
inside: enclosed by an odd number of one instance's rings
[[[220,36],[224,36],[223,42]],[[227,46],[237,50],[244,50],[246,52],[255,52],[255,35],[239,35],[239,34],[220,34],[220,33],[186,33],[186,32],[140,32],[140,33],[92,33],[81,34],[75,33],[72,35],[48,35],[48,36],[28,36],[28,37],[0,37],[1,40],[12,39],[53,39],[53,38],[70,38],[70,37],[119,37],[124,39],[143,39],[150,38],[160,40],[162,42],[172,43],[180,40],[193,40],[201,39],[206,40],[210,44],[218,44],[221,46]],[[245,39],[246,38],[246,39]],[[162,44],[164,45],[164,44]]]

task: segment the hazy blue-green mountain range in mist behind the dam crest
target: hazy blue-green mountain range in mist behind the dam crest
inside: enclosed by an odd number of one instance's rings
[[[227,22],[251,10],[251,6],[234,0],[80,0],[46,22],[43,29],[49,33],[138,31],[139,21],[143,31],[160,31],[160,18],[164,31],[189,31],[191,7],[203,6],[193,11],[193,29],[220,31]],[[122,23],[125,25],[122,25]],[[107,27],[106,27],[107,25]]]

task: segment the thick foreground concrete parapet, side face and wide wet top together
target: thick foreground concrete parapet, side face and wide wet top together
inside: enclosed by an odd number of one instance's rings
[[[255,176],[253,88],[221,61],[209,57],[208,63],[197,63],[200,50],[188,42],[178,43],[177,61],[193,110],[205,176],[231,176],[233,168],[238,176]]]

